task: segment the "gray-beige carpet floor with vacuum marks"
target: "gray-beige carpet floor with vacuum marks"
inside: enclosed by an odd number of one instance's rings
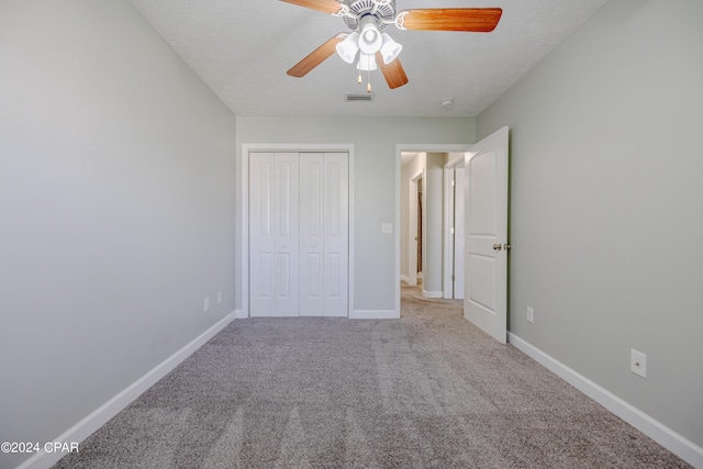
[[[236,320],[55,468],[684,468],[461,315]]]

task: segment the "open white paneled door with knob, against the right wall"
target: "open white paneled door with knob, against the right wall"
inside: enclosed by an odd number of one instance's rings
[[[507,339],[507,127],[466,153],[466,290],[464,315]]]

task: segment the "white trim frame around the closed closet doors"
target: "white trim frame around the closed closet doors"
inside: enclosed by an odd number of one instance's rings
[[[237,311],[237,317],[249,317],[249,153],[256,152],[328,152],[347,153],[349,155],[349,265],[348,265],[348,311],[347,317],[354,317],[354,145],[353,144],[242,144],[242,263],[239,276],[242,283],[242,311]],[[400,310],[399,310],[400,311]]]

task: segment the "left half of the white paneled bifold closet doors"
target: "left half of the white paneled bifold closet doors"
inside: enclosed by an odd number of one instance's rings
[[[299,314],[297,153],[249,156],[252,316]]]

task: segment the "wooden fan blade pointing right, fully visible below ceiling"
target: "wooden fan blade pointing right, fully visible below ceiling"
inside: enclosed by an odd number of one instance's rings
[[[406,10],[401,26],[415,31],[467,31],[490,33],[503,14],[500,8],[436,8]],[[405,12],[401,12],[405,13]]]

